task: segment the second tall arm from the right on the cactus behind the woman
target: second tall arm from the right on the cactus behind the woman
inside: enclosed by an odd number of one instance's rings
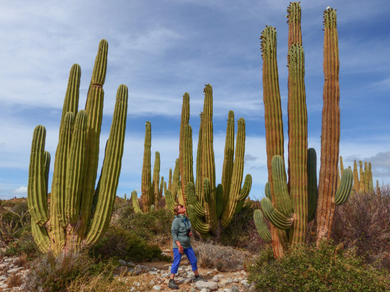
[[[226,126],[225,154],[222,166],[221,183],[223,188],[222,212],[229,203],[230,184],[232,183],[234,165],[234,111],[230,110],[228,114],[228,123]]]

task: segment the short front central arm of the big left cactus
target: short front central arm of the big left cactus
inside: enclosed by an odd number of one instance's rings
[[[75,224],[79,217],[82,190],[79,178],[84,175],[86,125],[87,113],[80,110],[76,116],[66,170],[65,216],[68,224]]]

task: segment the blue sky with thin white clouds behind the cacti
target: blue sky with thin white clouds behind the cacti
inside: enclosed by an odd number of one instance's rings
[[[7,1],[0,12],[0,199],[27,194],[31,138],[47,129],[54,157],[69,70],[81,66],[83,108],[100,39],[108,40],[108,68],[100,152],[111,126],[116,90],[129,88],[118,196],[140,193],[145,121],[152,123],[160,175],[178,156],[182,95],[190,93],[194,149],[203,88],[214,93],[214,151],[220,181],[226,119],[246,120],[251,198],[267,182],[262,60],[259,37],[277,30],[279,84],[287,142],[286,0]],[[320,153],[323,88],[322,13],[337,9],[340,54],[340,155],[372,163],[374,180],[390,183],[390,2],[301,1],[309,147]],[[287,147],[286,147],[287,152]],[[287,154],[285,155],[287,157]],[[51,163],[51,176],[53,171]],[[102,163],[100,155],[99,164]],[[318,162],[319,165],[319,162]],[[100,168],[100,166],[99,166]],[[319,166],[318,166],[319,170]]]

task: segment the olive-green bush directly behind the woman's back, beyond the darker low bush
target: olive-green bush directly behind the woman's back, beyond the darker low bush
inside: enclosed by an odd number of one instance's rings
[[[117,210],[114,223],[128,231],[134,231],[139,237],[152,244],[164,245],[172,240],[171,225],[173,214],[167,209],[135,214],[133,207],[127,205]]]

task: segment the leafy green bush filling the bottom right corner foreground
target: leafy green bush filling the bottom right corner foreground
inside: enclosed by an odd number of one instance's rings
[[[256,291],[389,291],[389,275],[362,263],[342,245],[297,245],[275,260],[270,247],[248,267]]]

